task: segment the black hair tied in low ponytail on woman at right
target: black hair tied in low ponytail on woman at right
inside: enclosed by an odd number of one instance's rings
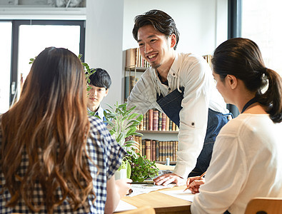
[[[233,75],[241,79],[249,91],[256,92],[258,103],[275,123],[282,121],[282,78],[266,68],[258,45],[250,39],[228,39],[219,45],[211,60],[213,71],[221,79]],[[263,93],[262,89],[268,85]]]

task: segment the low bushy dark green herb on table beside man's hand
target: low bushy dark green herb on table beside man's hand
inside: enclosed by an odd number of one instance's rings
[[[153,178],[158,175],[159,169],[156,168],[155,161],[148,161],[146,156],[140,156],[129,158],[129,164],[131,165],[131,180],[134,182],[143,182],[147,178]]]

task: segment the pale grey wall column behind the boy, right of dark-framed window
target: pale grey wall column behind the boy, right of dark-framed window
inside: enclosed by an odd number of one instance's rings
[[[105,103],[113,106],[121,103],[123,76],[123,0],[86,1],[85,61],[91,67],[104,68],[109,72],[112,85]]]

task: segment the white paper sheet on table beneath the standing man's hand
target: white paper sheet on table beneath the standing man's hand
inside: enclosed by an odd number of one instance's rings
[[[133,190],[133,192],[129,195],[129,197],[141,195],[144,193],[150,193],[152,191],[161,190],[165,188],[173,188],[173,186],[175,186],[175,184],[172,184],[172,183],[168,185],[154,185],[152,183],[147,183],[147,184],[146,183],[142,183],[142,184],[134,183],[131,185],[131,189]]]

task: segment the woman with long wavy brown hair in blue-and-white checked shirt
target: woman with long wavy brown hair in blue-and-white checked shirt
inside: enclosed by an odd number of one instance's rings
[[[19,101],[0,118],[0,213],[112,213],[129,190],[114,172],[125,152],[87,116],[79,58],[47,48]],[[105,208],[106,206],[106,208]]]

